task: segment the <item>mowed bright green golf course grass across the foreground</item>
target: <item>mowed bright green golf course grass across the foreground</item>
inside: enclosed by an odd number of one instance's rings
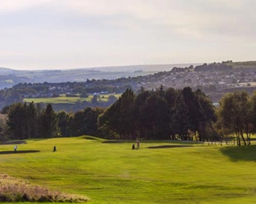
[[[90,137],[27,140],[26,154],[0,154],[0,172],[81,194],[89,203],[255,203],[256,146],[168,141],[102,143]],[[57,152],[52,152],[56,145]],[[0,145],[1,151],[13,145]]]

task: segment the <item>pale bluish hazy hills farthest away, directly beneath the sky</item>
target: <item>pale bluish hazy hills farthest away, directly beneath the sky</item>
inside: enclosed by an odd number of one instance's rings
[[[137,77],[153,74],[159,71],[169,71],[173,67],[186,67],[190,64],[163,64],[163,65],[131,65],[90,67],[59,70],[15,70],[0,68],[0,89],[10,88],[19,83],[61,83],[86,82],[87,79],[114,80],[118,78]],[[193,64],[197,65],[197,64]]]

